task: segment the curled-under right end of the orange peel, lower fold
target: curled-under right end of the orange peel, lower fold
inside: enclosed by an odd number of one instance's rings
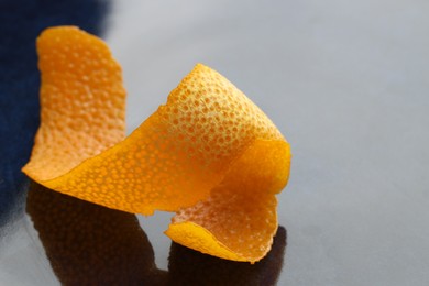
[[[222,258],[260,261],[277,231],[275,194],[287,184],[289,162],[286,142],[255,141],[206,200],[177,212],[166,234]]]

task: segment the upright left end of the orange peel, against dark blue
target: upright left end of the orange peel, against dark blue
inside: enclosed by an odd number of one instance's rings
[[[41,127],[23,170],[45,182],[123,140],[125,90],[122,69],[100,38],[61,26],[45,30],[36,44]]]

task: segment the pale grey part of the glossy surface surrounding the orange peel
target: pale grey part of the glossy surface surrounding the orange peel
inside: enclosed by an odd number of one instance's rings
[[[129,132],[204,63],[288,139],[279,285],[429,285],[428,14],[424,0],[116,1],[106,40]],[[169,217],[140,218],[161,268]],[[32,231],[0,242],[1,282],[57,283]]]

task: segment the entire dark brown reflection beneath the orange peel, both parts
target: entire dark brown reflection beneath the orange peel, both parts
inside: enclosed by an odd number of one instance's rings
[[[168,272],[158,270],[132,213],[31,183],[26,211],[63,285],[275,285],[287,233],[278,227],[260,262],[233,262],[172,243]]]

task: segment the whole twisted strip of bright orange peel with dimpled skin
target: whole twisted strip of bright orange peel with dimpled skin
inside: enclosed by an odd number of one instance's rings
[[[267,253],[290,150],[239,89],[197,65],[124,139],[125,91],[107,45],[62,26],[43,32],[37,51],[42,124],[25,174],[109,208],[177,211],[166,234],[204,253]]]

